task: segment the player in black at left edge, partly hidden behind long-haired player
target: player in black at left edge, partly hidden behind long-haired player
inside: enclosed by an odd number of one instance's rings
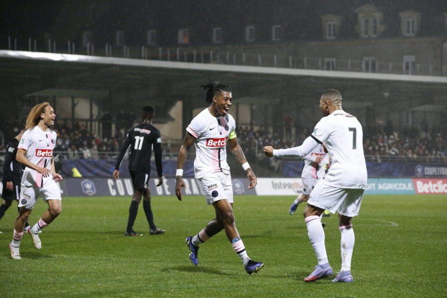
[[[24,131],[22,130],[11,142],[6,145],[6,154],[3,163],[3,191],[1,198],[4,200],[0,206],[0,219],[4,216],[6,210],[12,205],[12,201],[17,201],[20,196],[20,182],[22,181],[23,168],[20,162],[15,160],[17,154],[18,142],[22,138]],[[20,208],[17,207],[20,214]],[[28,227],[28,221],[25,223],[25,230]],[[0,232],[1,233],[1,232]]]

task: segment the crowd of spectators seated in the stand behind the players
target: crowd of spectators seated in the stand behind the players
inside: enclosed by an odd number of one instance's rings
[[[0,151],[20,130],[18,123],[8,123],[0,131]],[[249,126],[239,126],[236,130],[237,139],[248,160],[264,158],[262,148],[272,145],[274,148],[290,148],[299,146],[312,130],[310,127],[295,128],[290,139],[285,132],[271,132],[266,127],[251,129]],[[58,134],[55,150],[66,152],[66,158],[113,158],[120,149],[125,132],[119,132],[116,137],[102,138],[90,134],[85,124],[74,123],[71,127],[67,122],[58,122],[55,131]],[[446,129],[443,127],[407,127],[396,130],[391,124],[374,126],[364,132],[364,150],[366,155],[380,161],[380,156],[403,156],[406,158],[446,157]],[[163,144],[163,153],[176,152]],[[110,156],[109,156],[110,155]],[[113,156],[112,156],[113,155]],[[275,159],[270,159],[270,165],[276,167]]]

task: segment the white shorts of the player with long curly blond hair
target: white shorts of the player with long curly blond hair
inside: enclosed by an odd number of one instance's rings
[[[42,187],[24,186],[22,184],[18,207],[25,207],[28,210],[34,209],[39,196],[42,196],[45,203],[48,200],[62,201],[61,190],[59,189],[58,185],[53,179],[48,179],[44,181],[44,185]]]

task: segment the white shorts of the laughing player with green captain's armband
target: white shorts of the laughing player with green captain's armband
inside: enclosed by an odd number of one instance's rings
[[[214,202],[227,199],[233,203],[233,184],[229,171],[208,174],[205,177],[197,179],[202,194],[207,199],[207,205]]]

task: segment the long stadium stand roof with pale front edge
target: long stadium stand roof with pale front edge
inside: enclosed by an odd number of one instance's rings
[[[39,92],[55,96],[134,94],[160,101],[183,100],[204,105],[200,84],[219,80],[237,98],[259,102],[294,100],[308,105],[328,88],[344,98],[380,102],[407,98],[445,98],[447,77],[335,72],[221,64],[167,62],[113,57],[0,50],[0,100]],[[72,90],[72,91],[70,91]],[[76,90],[76,91],[74,91]],[[51,91],[51,92],[50,92]],[[75,95],[72,95],[75,96]],[[200,100],[196,100],[199,98]],[[307,100],[305,100],[307,99]]]

